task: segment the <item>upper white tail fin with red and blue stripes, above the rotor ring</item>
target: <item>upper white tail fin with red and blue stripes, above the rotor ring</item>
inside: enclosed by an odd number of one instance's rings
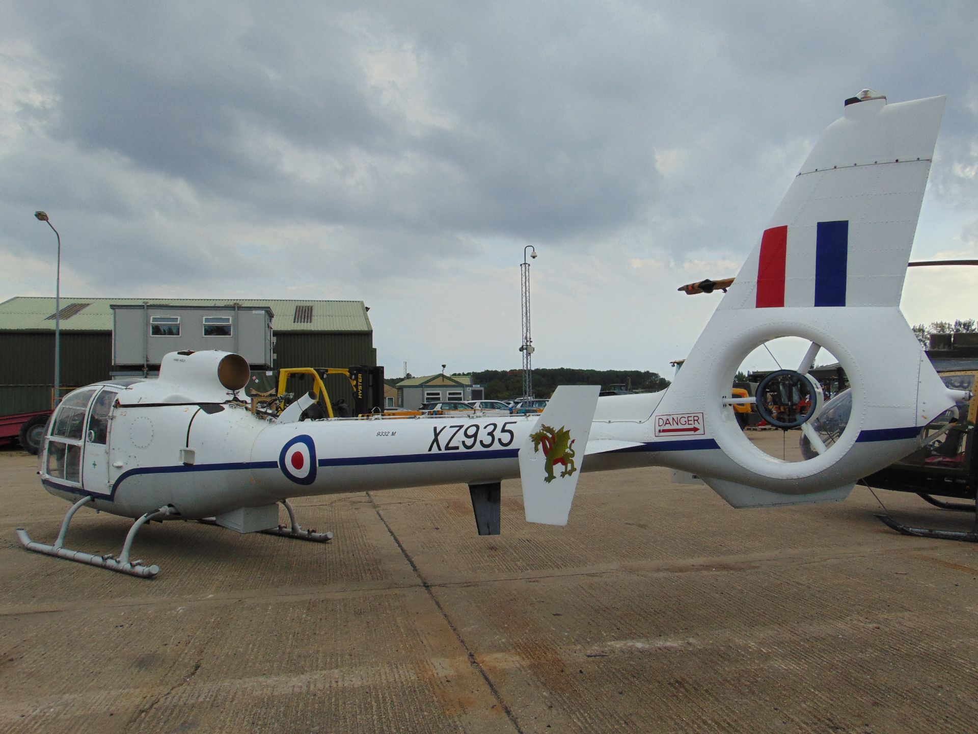
[[[899,305],[943,112],[944,97],[847,105],[720,308]]]

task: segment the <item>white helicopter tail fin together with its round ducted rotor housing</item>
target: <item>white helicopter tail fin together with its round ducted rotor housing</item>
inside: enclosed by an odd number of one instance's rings
[[[920,428],[954,404],[899,310],[944,98],[861,97],[825,130],[655,408],[649,450],[737,506],[838,499],[910,453]],[[823,346],[853,393],[842,435],[796,463],[754,447],[723,400],[747,354],[779,337],[812,343],[785,371],[791,380],[810,380]],[[821,396],[812,405],[803,420],[818,414]],[[696,417],[703,431],[666,436],[658,425],[671,416]]]

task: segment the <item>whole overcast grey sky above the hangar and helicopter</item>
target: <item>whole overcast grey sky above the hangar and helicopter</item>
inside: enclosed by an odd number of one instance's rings
[[[662,7],[659,7],[662,6]],[[948,96],[912,257],[978,257],[978,5],[0,0],[0,299],[353,298],[389,376],[670,375],[842,102]],[[911,323],[978,268],[911,269]],[[758,364],[757,366],[763,366]]]

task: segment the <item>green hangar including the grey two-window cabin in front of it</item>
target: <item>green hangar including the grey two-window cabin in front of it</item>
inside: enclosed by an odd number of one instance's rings
[[[360,300],[62,298],[62,393],[111,374],[153,375],[158,353],[187,348],[246,347],[259,370],[375,366],[368,310]],[[50,409],[55,323],[54,298],[0,303],[0,415]],[[348,384],[329,389],[352,397]]]

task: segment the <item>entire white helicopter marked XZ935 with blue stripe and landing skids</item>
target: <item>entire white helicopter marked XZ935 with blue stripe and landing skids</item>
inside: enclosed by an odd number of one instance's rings
[[[923,427],[955,403],[899,309],[943,108],[943,97],[888,105],[871,90],[847,100],[667,390],[599,398],[597,388],[562,386],[536,416],[303,421],[248,410],[238,355],[173,352],[156,380],[89,386],[62,401],[40,474],[74,504],[53,545],[21,528],[22,544],[152,576],[156,567],[128,560],[149,520],[214,518],[244,532],[325,540],[332,535],[298,526],[289,497],[456,482],[468,484],[479,533],[495,534],[500,482],[515,478],[527,520],[564,525],[585,468],[672,467],[735,507],[843,499],[916,448]],[[805,411],[767,416],[811,441],[815,455],[794,463],[757,449],[731,407],[744,357],[780,337],[811,344],[797,369],[758,390],[810,398]],[[833,442],[811,427],[824,402],[810,374],[821,347],[853,393]],[[767,410],[760,398],[758,409]],[[278,503],[288,528],[278,526]],[[64,547],[82,506],[136,519],[118,559]]]

